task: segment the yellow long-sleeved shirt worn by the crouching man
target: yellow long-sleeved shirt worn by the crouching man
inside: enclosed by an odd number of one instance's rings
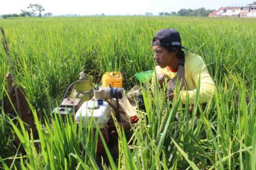
[[[196,90],[198,83],[200,83],[199,103],[206,103],[212,98],[216,91],[216,86],[213,82],[212,77],[208,72],[205,62],[203,62],[202,57],[195,55],[193,53],[187,53],[185,55],[185,82],[186,90],[181,91],[181,102],[186,103],[186,98],[188,95],[189,103],[193,104],[196,99]],[[156,66],[156,74],[166,74],[170,79],[174,78],[177,72],[171,72],[168,67],[161,68]],[[153,74],[154,75],[154,74]],[[152,84],[154,84],[154,76],[152,79]],[[200,82],[199,82],[200,79]]]

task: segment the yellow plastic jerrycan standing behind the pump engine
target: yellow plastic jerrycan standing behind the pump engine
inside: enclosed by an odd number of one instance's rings
[[[121,72],[106,72],[102,77],[102,87],[122,87]]]

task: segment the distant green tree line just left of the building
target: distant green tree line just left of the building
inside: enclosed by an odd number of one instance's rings
[[[209,13],[213,11],[215,11],[215,9],[198,8],[193,10],[190,8],[181,8],[178,12],[160,12],[159,16],[208,16]]]

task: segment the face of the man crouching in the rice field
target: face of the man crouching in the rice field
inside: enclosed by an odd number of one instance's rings
[[[174,60],[178,60],[176,57],[176,52],[169,52],[164,47],[159,45],[153,45],[154,50],[154,60],[161,68],[171,66]]]

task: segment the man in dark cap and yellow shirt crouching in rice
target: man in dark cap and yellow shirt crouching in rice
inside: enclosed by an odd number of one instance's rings
[[[216,91],[215,84],[208,72],[202,57],[184,53],[182,49],[188,50],[181,45],[181,36],[178,31],[167,28],[159,30],[152,40],[154,60],[156,60],[156,76],[160,85],[167,80],[169,96],[173,94],[177,81],[181,84],[181,102],[193,104],[196,99],[198,86],[199,103],[206,103]],[[155,84],[156,77],[152,77]]]

